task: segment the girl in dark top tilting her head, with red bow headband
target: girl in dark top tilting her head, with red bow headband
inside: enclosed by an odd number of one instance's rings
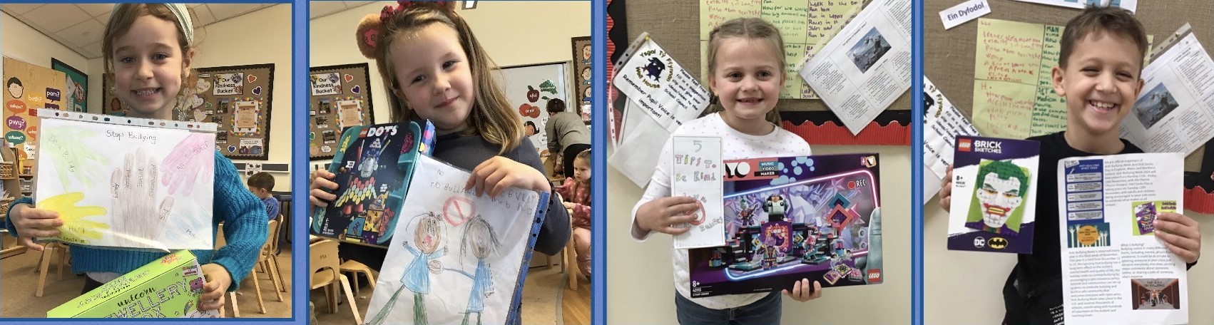
[[[507,187],[551,192],[539,154],[523,133],[522,119],[493,78],[494,64],[454,11],[454,1],[399,1],[380,15],[368,15],[356,32],[358,50],[376,62],[393,95],[392,121],[430,120],[438,138],[433,158],[471,170],[466,187],[477,195],[499,195]],[[336,199],[335,176],[312,175],[311,203]],[[569,216],[557,195],[546,216],[535,251],[555,255],[569,239]],[[541,203],[544,204],[544,203]],[[342,258],[379,269],[386,250],[344,245]],[[512,321],[518,321],[517,319]]]

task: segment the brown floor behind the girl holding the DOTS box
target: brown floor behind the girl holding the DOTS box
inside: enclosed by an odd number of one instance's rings
[[[590,324],[590,284],[586,283],[585,278],[582,278],[577,291],[569,290],[567,284],[566,275],[561,273],[560,264],[555,264],[552,268],[531,268],[527,272],[526,284],[523,284],[522,324]],[[364,286],[359,290],[358,295],[354,295],[361,315],[367,314],[367,304],[370,302],[371,292],[374,292],[374,289]],[[336,313],[327,310],[324,290],[313,290],[311,300],[316,304],[317,323],[314,324],[354,323],[346,302],[337,306]]]

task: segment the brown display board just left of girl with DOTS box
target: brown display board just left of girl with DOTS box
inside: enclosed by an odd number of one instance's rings
[[[346,127],[375,124],[367,63],[312,67],[308,73],[308,156],[333,159]]]

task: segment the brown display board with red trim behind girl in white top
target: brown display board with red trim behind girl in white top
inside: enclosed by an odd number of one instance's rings
[[[708,87],[708,82],[703,79],[700,69],[704,65],[703,53],[700,51],[700,46],[703,44],[700,41],[700,2],[703,1],[611,1],[607,10],[609,24],[607,30],[609,38],[608,56],[614,57],[613,50],[624,51],[636,36],[639,36],[642,32],[647,32],[649,33],[651,39],[657,41],[663,50],[679,61],[679,64],[685,67],[688,73],[700,80],[700,84],[703,84],[704,87]],[[727,2],[764,4],[767,1],[749,0]],[[799,1],[794,2],[799,4]],[[816,1],[806,1],[806,4],[809,2]],[[619,5],[624,5],[626,12],[620,12],[618,7],[614,7]],[[697,15],[687,15],[688,12],[696,12]],[[626,19],[623,18],[624,16],[626,16]],[[626,33],[612,33],[613,28],[622,28]],[[809,25],[806,28],[809,28]],[[788,40],[785,40],[785,42],[788,42]],[[823,42],[823,45],[826,45],[826,42]],[[788,57],[790,64],[800,63],[801,58],[804,58],[804,56],[795,53],[789,53]],[[800,76],[798,76],[798,79],[800,79]],[[798,96],[805,97],[807,95],[809,92],[804,92]],[[615,104],[613,108],[623,109],[623,106]],[[843,126],[843,122],[833,112],[830,112],[829,108],[827,108],[824,103],[822,103],[821,99],[781,98],[779,103],[776,104],[776,108],[781,110],[781,116],[784,119],[783,127],[800,135],[810,144],[910,144],[909,91],[898,97],[894,104],[878,115],[877,119],[857,136],[851,135],[851,132]],[[617,119],[617,122],[619,120]]]

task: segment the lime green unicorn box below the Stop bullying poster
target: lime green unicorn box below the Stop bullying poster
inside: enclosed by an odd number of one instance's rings
[[[47,318],[219,318],[199,312],[202,268],[189,251],[178,251],[106,283],[46,312]]]

